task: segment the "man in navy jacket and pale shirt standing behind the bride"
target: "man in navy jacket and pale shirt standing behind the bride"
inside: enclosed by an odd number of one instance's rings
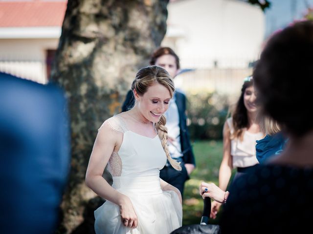
[[[175,78],[179,72],[179,57],[171,48],[160,47],[151,56],[150,65],[163,67],[172,78]],[[133,106],[134,94],[130,90],[126,95],[122,112],[128,111]],[[195,157],[187,129],[186,97],[183,93],[175,91],[165,116],[169,151],[172,158],[181,162],[182,170],[179,172],[166,163],[166,166],[160,171],[160,178],[178,188],[183,195],[184,183],[195,168]]]

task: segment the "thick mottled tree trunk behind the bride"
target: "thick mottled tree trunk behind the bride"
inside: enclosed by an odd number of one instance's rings
[[[51,72],[69,98],[71,172],[59,233],[93,233],[101,199],[85,173],[102,122],[120,112],[138,68],[166,32],[168,0],[68,0]]]

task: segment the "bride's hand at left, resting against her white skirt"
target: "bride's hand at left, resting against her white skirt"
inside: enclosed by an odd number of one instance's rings
[[[119,204],[119,209],[123,225],[129,228],[136,228],[137,215],[134,211],[133,204],[128,196],[122,195],[121,202]]]

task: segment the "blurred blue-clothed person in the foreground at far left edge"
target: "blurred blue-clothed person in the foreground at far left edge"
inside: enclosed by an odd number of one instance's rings
[[[62,90],[0,73],[0,233],[54,233],[69,150]]]

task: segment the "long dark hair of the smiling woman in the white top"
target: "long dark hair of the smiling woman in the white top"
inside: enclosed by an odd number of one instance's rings
[[[248,127],[248,116],[247,116],[247,110],[244,103],[244,95],[246,88],[251,87],[253,85],[252,79],[248,79],[244,82],[242,88],[241,88],[241,94],[237,101],[235,110],[232,114],[233,117],[233,126],[234,126],[234,133],[232,134],[231,138],[242,138],[242,134],[244,132],[244,129]]]

